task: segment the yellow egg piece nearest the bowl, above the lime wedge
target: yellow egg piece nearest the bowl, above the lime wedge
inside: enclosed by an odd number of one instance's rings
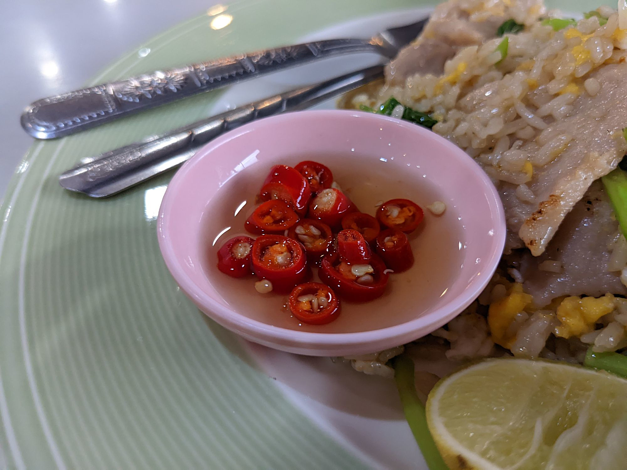
[[[504,348],[510,347],[516,337],[515,335],[508,335],[507,329],[516,315],[524,311],[532,300],[532,296],[522,291],[522,284],[515,283],[505,297],[490,304],[488,326],[490,326],[493,342]]]

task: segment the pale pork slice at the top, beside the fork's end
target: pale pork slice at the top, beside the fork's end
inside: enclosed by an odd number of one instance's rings
[[[386,67],[387,83],[400,85],[416,73],[440,75],[445,62],[456,51],[493,38],[503,21],[512,18],[524,23],[529,12],[535,21],[544,13],[542,0],[496,2],[491,7],[475,9],[476,6],[467,6],[459,0],[438,5],[418,39],[401,50]]]

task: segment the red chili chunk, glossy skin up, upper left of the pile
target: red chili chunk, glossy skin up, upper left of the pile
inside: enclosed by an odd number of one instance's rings
[[[287,165],[275,165],[263,182],[261,201],[282,199],[299,214],[305,214],[312,192],[305,177]]]

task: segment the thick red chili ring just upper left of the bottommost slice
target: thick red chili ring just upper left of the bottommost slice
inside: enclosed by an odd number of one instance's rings
[[[261,235],[253,243],[253,272],[268,279],[272,290],[287,293],[310,275],[305,249],[281,235]]]

